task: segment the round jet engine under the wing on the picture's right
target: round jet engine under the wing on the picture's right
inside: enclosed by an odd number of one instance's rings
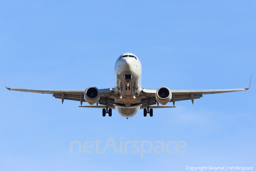
[[[166,105],[172,99],[172,92],[168,87],[160,87],[156,90],[156,101]]]

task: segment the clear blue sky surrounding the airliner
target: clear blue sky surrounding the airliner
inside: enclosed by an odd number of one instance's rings
[[[249,91],[178,101],[128,120],[79,101],[0,88],[0,170],[186,170],[256,167],[255,1],[0,1],[7,87],[114,87],[119,55],[142,63],[142,86]],[[3,81],[3,80],[2,80]],[[84,103],[85,104],[85,103]],[[172,104],[168,104],[172,105]],[[70,141],[185,141],[184,154],[69,153]],[[170,150],[175,146],[171,144]],[[149,145],[145,145],[149,149]]]

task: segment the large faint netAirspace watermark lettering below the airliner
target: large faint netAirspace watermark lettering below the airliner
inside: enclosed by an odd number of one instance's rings
[[[122,140],[123,137],[120,137],[120,140]],[[110,142],[112,144],[110,144]],[[70,153],[73,152],[73,145],[74,144],[79,144],[79,153],[82,152],[82,143],[80,141],[70,141]],[[115,150],[115,153],[123,153],[123,141],[120,141],[120,146],[119,146],[119,151],[117,150],[117,147],[115,145],[115,141],[113,139],[113,137],[110,137],[108,139],[108,142],[107,144],[105,145],[103,151],[99,151],[99,144],[102,143],[102,141],[99,141],[99,139],[96,139],[96,141],[94,141],[94,143],[96,144],[96,153],[105,153],[106,150],[108,149],[108,147],[113,147],[111,148],[111,150]],[[83,150],[84,152],[86,153],[93,153],[94,150],[92,148],[88,149],[89,147],[94,147],[94,143],[92,141],[86,141],[84,144],[83,144]],[[90,144],[90,145],[88,145]],[[155,141],[155,145],[158,145],[158,146],[155,146],[154,149],[153,149],[153,144],[150,142],[150,141],[124,141],[124,153],[127,153],[127,146],[131,146],[133,145],[133,147],[136,148],[136,151],[131,151],[132,153],[139,153],[141,152],[141,158],[143,158],[143,154],[144,153],[150,153],[152,150],[154,151],[154,153],[164,153],[164,147],[165,147],[165,150],[166,152],[168,153],[174,153],[174,149],[172,149],[173,151],[170,151],[168,146],[170,144],[175,144],[175,150],[178,152],[178,153],[185,153],[186,151],[180,151],[179,150],[179,147],[187,147],[187,144],[185,143],[185,141],[178,141],[177,143],[175,143],[175,141],[168,141],[166,144],[164,144],[163,141]],[[137,145],[138,144],[138,145]],[[144,144],[149,144],[150,148],[149,150],[145,150],[144,149]],[[159,145],[161,144],[161,145]],[[139,148],[139,147],[141,148]],[[148,145],[146,145],[148,146]],[[160,148],[160,150],[157,150],[158,148]],[[91,151],[88,151],[88,150],[91,150]]]

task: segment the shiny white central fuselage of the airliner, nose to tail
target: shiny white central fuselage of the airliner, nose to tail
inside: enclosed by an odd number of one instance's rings
[[[132,117],[140,109],[141,62],[132,53],[124,53],[115,62],[115,109],[123,117]]]

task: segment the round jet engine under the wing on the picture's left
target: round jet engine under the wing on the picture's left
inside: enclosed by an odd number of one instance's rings
[[[84,99],[90,105],[97,103],[100,100],[100,91],[96,87],[88,87],[84,91]]]

